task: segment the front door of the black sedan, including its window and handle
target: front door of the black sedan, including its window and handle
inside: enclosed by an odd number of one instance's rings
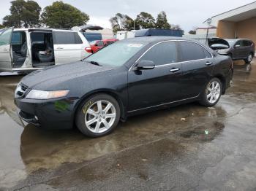
[[[181,63],[176,63],[176,42],[161,42],[151,47],[140,61],[153,61],[156,67],[128,72],[128,111],[177,101],[182,69]]]

